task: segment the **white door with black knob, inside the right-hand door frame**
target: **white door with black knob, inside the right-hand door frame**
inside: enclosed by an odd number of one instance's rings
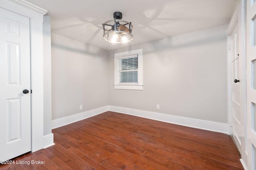
[[[242,150],[242,127],[241,127],[241,104],[242,90],[240,90],[240,64],[242,63],[239,57],[239,36],[238,23],[234,27],[230,35],[230,50],[231,50],[231,100],[232,100],[232,137],[238,147],[240,153]]]

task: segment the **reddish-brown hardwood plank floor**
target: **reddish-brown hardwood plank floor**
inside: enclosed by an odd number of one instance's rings
[[[56,145],[24,154],[14,159],[21,164],[0,169],[243,169],[229,135],[121,113],[108,111],[52,132]]]

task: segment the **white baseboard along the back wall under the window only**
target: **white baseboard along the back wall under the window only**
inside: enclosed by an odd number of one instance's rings
[[[227,123],[218,123],[213,121],[205,121],[205,120],[192,119],[187,117],[166,115],[162,113],[142,111],[142,110],[130,109],[126,107],[118,107],[118,106],[108,106],[108,107],[109,107],[109,111],[115,111],[118,113],[125,113],[128,115],[134,115],[138,117],[144,117],[147,119],[153,119],[153,120],[173,123],[177,125],[194,127],[197,129],[204,129],[208,131],[214,131],[214,132],[220,132],[220,133],[226,133],[226,134],[229,133]]]

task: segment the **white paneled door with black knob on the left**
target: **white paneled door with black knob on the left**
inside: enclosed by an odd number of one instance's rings
[[[0,160],[31,150],[30,19],[2,8],[0,129]]]

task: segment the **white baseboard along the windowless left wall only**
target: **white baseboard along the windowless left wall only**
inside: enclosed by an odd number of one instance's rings
[[[74,123],[76,121],[80,121],[95,115],[98,115],[100,113],[103,113],[105,111],[108,111],[108,106],[100,107],[97,109],[92,109],[88,111],[84,111],[82,113],[78,113],[75,115],[67,116],[67,117],[62,117],[60,119],[55,119],[52,120],[52,129],[55,129],[57,127],[61,127],[64,125],[68,125],[70,123]]]

